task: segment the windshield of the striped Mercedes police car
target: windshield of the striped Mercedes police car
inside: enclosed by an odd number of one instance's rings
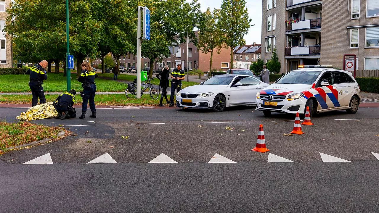
[[[291,71],[276,83],[279,84],[313,84],[320,75],[319,71],[296,70]]]

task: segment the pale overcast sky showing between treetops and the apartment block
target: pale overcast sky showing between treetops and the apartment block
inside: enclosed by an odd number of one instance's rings
[[[187,0],[191,2],[191,0]],[[198,0],[201,4],[201,10],[204,12],[210,7],[211,11],[213,8],[220,8],[222,0]],[[250,28],[249,33],[244,37],[246,44],[252,44],[253,42],[261,43],[261,29],[262,29],[262,0],[246,0],[247,10],[249,16],[252,19],[250,24],[254,24]]]

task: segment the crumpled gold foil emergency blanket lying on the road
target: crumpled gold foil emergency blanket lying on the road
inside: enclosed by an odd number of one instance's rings
[[[21,113],[16,119],[20,121],[34,121],[56,116],[58,116],[58,112],[55,110],[53,103],[49,102],[29,108],[28,111]]]

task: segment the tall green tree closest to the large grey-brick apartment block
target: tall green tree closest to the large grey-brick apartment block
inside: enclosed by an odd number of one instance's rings
[[[233,67],[233,49],[244,45],[243,36],[249,32],[251,19],[246,0],[222,0],[220,20],[217,22],[224,34],[224,41],[230,47],[230,66]]]

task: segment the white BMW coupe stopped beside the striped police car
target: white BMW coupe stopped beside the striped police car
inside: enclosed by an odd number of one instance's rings
[[[216,75],[200,85],[180,90],[176,95],[176,105],[221,112],[226,107],[254,105],[255,94],[268,86],[249,75]]]

